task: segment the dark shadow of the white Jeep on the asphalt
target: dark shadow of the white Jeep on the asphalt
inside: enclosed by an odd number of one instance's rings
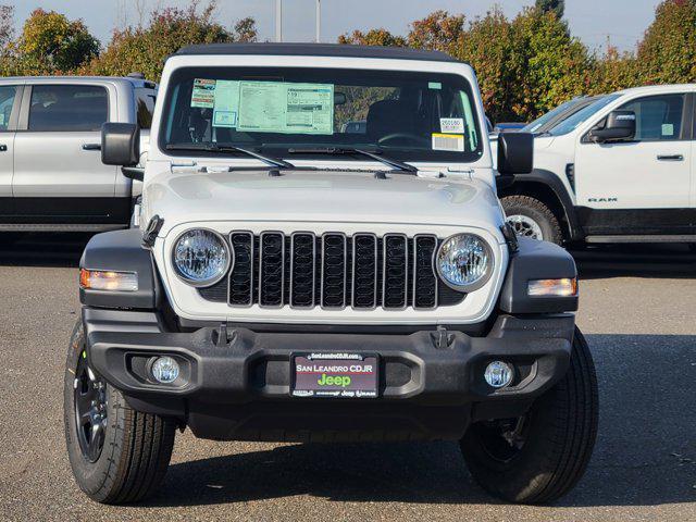
[[[696,501],[696,335],[589,335],[600,425],[587,473],[557,506]],[[266,448],[265,445],[260,445]],[[335,501],[499,504],[456,443],[284,445],[171,465],[149,505],[310,495]]]

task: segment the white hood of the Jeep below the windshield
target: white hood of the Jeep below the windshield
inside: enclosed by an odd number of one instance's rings
[[[220,221],[502,224],[500,207],[480,181],[364,171],[169,171],[145,186],[145,219],[164,220],[160,236],[183,223]],[[169,225],[169,226],[167,226]]]

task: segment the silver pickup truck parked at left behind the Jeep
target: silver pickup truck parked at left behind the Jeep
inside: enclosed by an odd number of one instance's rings
[[[0,231],[126,228],[140,184],[101,162],[101,125],[138,125],[145,151],[156,96],[140,73],[0,79]]]

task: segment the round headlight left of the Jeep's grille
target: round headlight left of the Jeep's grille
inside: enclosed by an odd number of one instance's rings
[[[217,283],[231,262],[229,249],[222,236],[203,228],[182,234],[174,244],[172,258],[176,274],[194,286]]]

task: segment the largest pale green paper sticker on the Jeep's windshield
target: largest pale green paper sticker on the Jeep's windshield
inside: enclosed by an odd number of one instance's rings
[[[238,130],[334,133],[333,84],[240,82],[238,108]]]

